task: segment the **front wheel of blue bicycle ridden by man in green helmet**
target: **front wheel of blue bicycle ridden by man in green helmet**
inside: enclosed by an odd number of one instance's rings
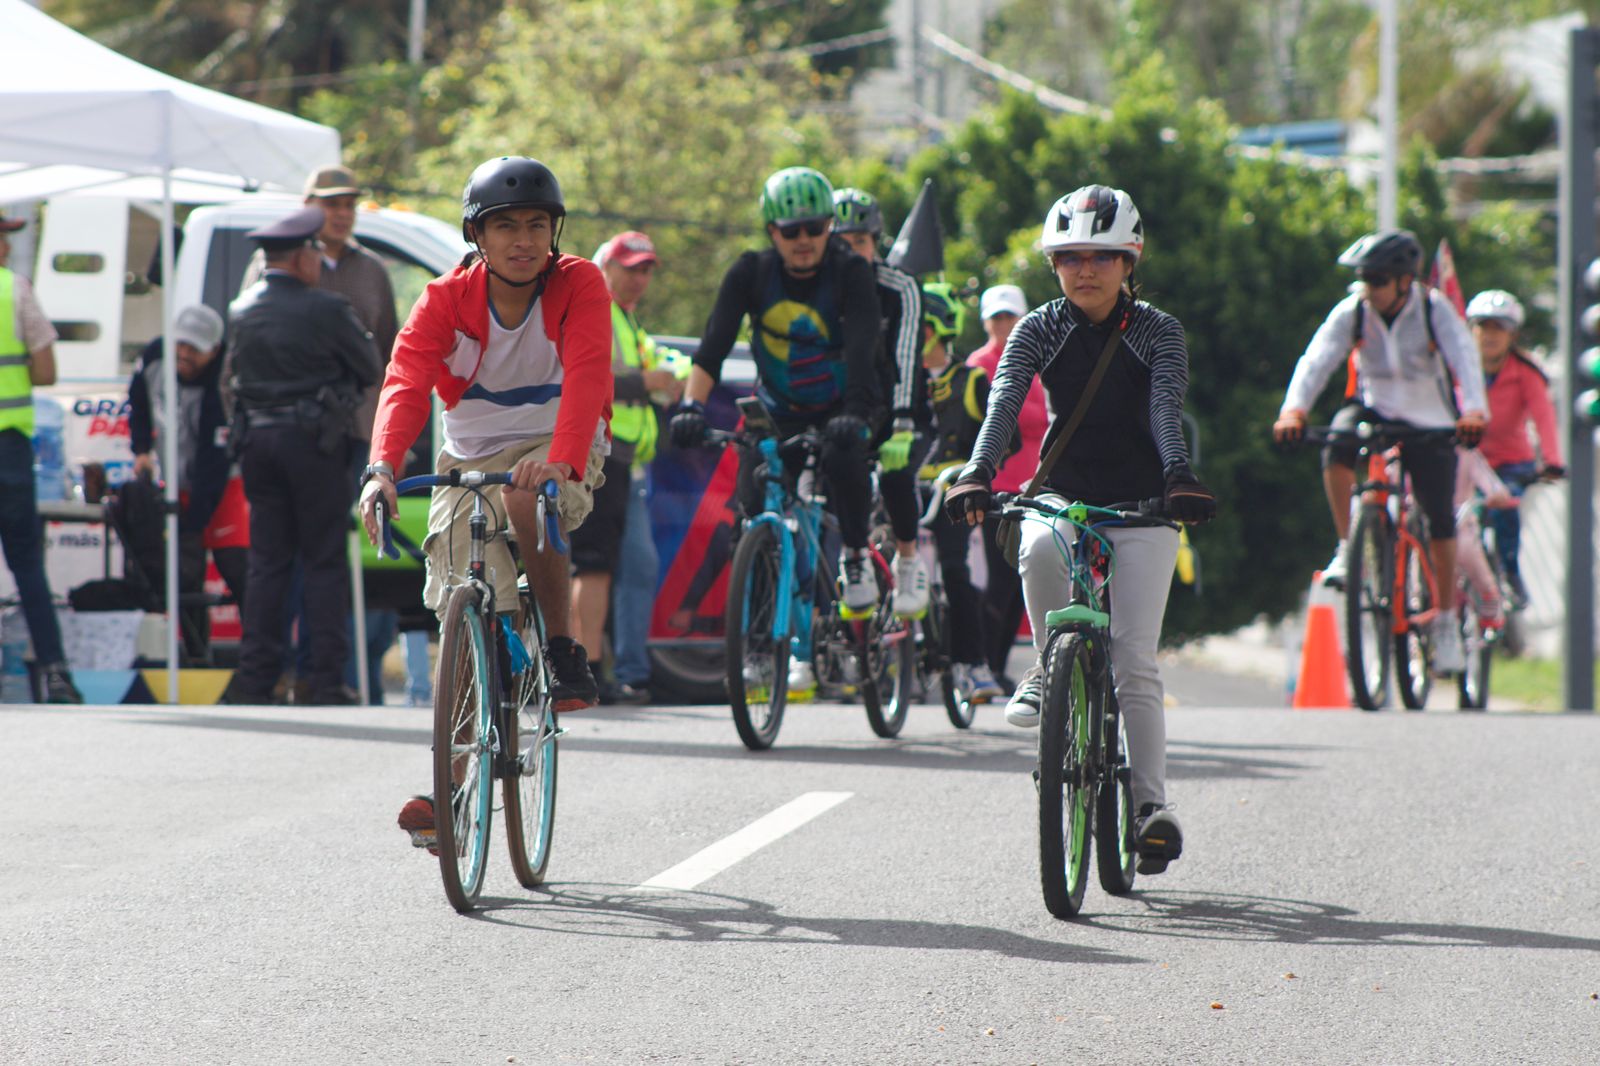
[[[725,613],[728,706],[733,727],[750,751],[778,739],[789,698],[789,637],[773,639],[773,611],[782,552],[770,525],[752,525],[739,538],[728,571]]]

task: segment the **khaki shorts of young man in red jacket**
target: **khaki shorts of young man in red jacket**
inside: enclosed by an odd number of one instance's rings
[[[550,455],[550,437],[533,437],[525,443],[512,445],[482,459],[458,459],[446,451],[440,451],[435,467],[440,474],[450,471],[483,471],[486,474],[504,474],[523,459],[544,459]],[[595,506],[595,488],[605,483],[605,451],[589,450],[589,461],[584,464],[584,477],[578,482],[562,485],[555,498],[555,509],[562,520],[562,533],[571,535]],[[483,488],[483,498],[490,506],[490,530],[509,525],[506,506],[501,501],[501,485]],[[427,584],[422,587],[422,603],[430,610],[445,608],[445,591],[451,584],[461,584],[467,576],[467,557],[472,549],[472,531],[467,522],[472,519],[472,493],[466,488],[435,488],[427,506],[427,539],[422,551],[427,554]],[[510,536],[515,533],[509,531]],[[517,603],[517,567],[510,559],[510,549],[502,538],[490,539],[483,551],[488,581],[494,586],[494,603],[499,610],[514,610]]]

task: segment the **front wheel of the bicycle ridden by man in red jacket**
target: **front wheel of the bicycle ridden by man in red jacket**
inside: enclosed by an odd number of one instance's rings
[[[480,611],[477,589],[451,589],[434,682],[434,834],[445,896],[461,914],[483,888],[494,820],[493,687]],[[443,810],[450,815],[440,818]]]

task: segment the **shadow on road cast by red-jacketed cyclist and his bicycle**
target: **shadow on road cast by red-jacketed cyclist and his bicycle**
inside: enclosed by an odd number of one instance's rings
[[[533,900],[480,898],[478,909],[469,917],[493,925],[579,936],[992,951],[1008,959],[1037,962],[1149,962],[1102,948],[960,922],[798,917],[781,914],[776,906],[760,900],[710,892],[656,892],[597,884],[552,884],[536,892],[539,895]]]

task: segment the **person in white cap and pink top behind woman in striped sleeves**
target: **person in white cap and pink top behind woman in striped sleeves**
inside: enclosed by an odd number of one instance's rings
[[[1016,285],[994,285],[984,290],[978,299],[978,314],[984,319],[984,333],[989,343],[966,357],[968,367],[978,367],[994,381],[995,368],[1000,365],[1000,354],[1005,351],[1006,338],[1018,320],[1029,312],[1027,296]],[[1003,493],[1019,493],[1038,469],[1040,442],[1045,439],[1045,427],[1050,424],[1050,410],[1045,407],[1045,386],[1038,378],[1022,400],[1022,411],[1018,415],[1018,431],[1022,434],[1022,450],[1000,464],[995,474],[995,490]],[[1000,685],[1010,693],[1016,685],[1006,675],[1006,659],[1016,643],[1016,631],[1022,624],[1022,581],[1016,570],[1000,555],[995,543],[995,531],[1000,519],[989,515],[984,519],[984,562],[989,578],[984,584],[984,659]]]

